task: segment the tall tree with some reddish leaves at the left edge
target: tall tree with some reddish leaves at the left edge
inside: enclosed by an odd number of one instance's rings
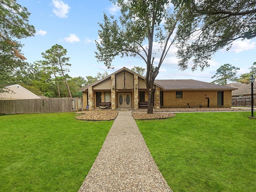
[[[18,39],[32,36],[34,26],[28,23],[30,13],[16,0],[0,0],[0,92],[3,84],[10,83],[15,72],[28,63],[21,54],[22,44]]]

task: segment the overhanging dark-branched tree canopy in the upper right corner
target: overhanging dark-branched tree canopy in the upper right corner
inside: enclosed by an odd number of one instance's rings
[[[178,52],[182,69],[209,66],[208,60],[219,49],[230,49],[237,39],[256,36],[256,1],[172,0],[179,6]]]

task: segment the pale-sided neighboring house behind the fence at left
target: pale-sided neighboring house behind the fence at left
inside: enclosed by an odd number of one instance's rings
[[[39,96],[19,84],[6,85],[5,88],[9,92],[0,93],[0,100],[40,99]]]

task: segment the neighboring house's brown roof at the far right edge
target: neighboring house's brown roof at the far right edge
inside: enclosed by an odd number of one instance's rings
[[[232,96],[243,96],[243,95],[251,95],[251,84],[242,84],[242,83],[230,83],[227,86],[232,86],[237,88],[236,90],[232,91]],[[256,94],[256,83],[253,85],[254,87],[254,94]]]

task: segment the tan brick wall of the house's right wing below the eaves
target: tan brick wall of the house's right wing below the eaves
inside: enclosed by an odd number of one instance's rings
[[[173,91],[164,91],[163,100],[164,106],[167,107],[190,107],[197,106],[202,107],[208,106],[209,98],[209,107],[219,107],[217,106],[217,93],[218,90],[183,90],[182,98],[176,98],[176,90]],[[224,102],[222,107],[231,107],[231,90],[224,90]]]

